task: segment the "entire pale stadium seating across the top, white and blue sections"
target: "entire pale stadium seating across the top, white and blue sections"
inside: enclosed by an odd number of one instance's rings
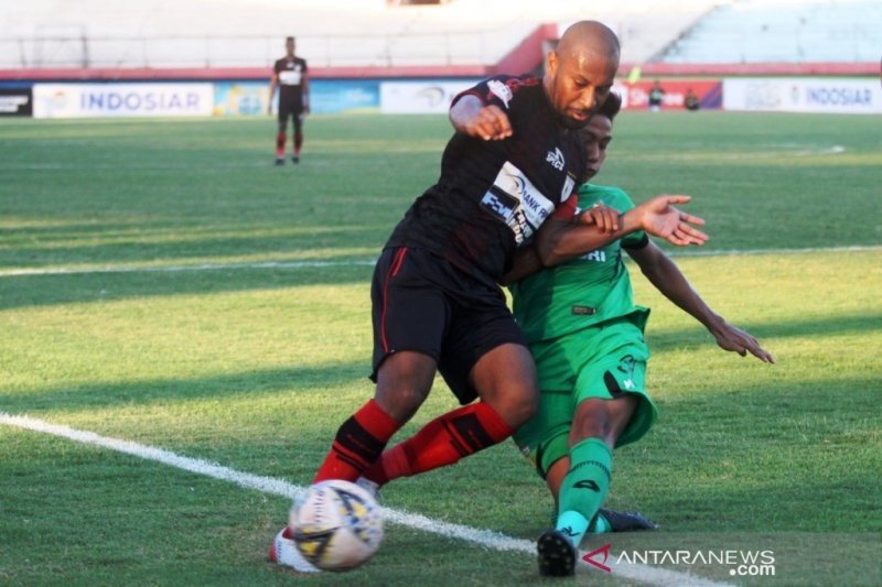
[[[544,23],[596,19],[624,63],[875,62],[879,0],[29,0],[7,2],[0,69],[493,65]]]

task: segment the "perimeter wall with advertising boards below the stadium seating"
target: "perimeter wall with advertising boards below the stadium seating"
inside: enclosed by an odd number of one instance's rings
[[[544,36],[537,33],[530,42]],[[536,48],[525,54],[535,55]],[[512,63],[526,64],[516,52]],[[646,108],[648,88],[659,79],[667,110],[682,109],[692,89],[701,109],[880,113],[879,66],[872,65],[872,70],[869,64],[624,65],[615,89],[630,109]],[[316,68],[312,111],[440,113],[456,93],[493,69]],[[0,70],[0,116],[257,116],[267,110],[268,77],[265,68]]]

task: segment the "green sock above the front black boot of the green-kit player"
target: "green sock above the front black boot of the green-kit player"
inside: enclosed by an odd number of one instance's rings
[[[613,454],[600,438],[585,438],[570,449],[570,470],[560,487],[560,514],[556,529],[578,547],[610,491]],[[606,521],[599,517],[594,532]],[[606,524],[607,525],[607,524]]]

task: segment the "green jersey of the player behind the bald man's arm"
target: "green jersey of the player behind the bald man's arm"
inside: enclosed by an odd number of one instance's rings
[[[634,203],[617,187],[584,184],[583,208],[604,204],[625,213]],[[636,231],[561,265],[545,269],[510,286],[514,314],[528,344],[557,338],[602,322],[636,314],[641,328],[648,309],[634,305],[622,247],[639,249],[648,238]]]

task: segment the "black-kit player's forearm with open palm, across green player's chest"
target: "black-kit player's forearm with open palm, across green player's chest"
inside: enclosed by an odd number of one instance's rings
[[[678,247],[703,244],[708,236],[696,227],[702,226],[704,220],[673,206],[690,199],[689,196],[657,196],[621,215],[611,225],[612,230],[599,226],[592,218],[594,208],[582,213],[578,217],[580,221],[576,224],[551,217],[542,224],[536,236],[539,260],[546,267],[557,265],[636,230],[645,230]]]

